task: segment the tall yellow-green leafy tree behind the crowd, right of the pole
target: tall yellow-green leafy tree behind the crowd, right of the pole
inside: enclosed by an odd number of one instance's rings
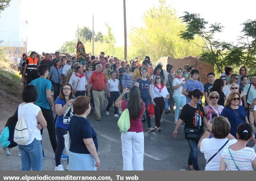
[[[159,0],[159,6],[150,8],[143,15],[144,26],[133,27],[129,34],[132,52],[136,57],[148,55],[153,61],[170,55],[174,58],[199,56],[203,49],[192,42],[179,37],[185,30],[185,24],[180,22],[175,9]],[[200,38],[196,43],[203,45]]]

